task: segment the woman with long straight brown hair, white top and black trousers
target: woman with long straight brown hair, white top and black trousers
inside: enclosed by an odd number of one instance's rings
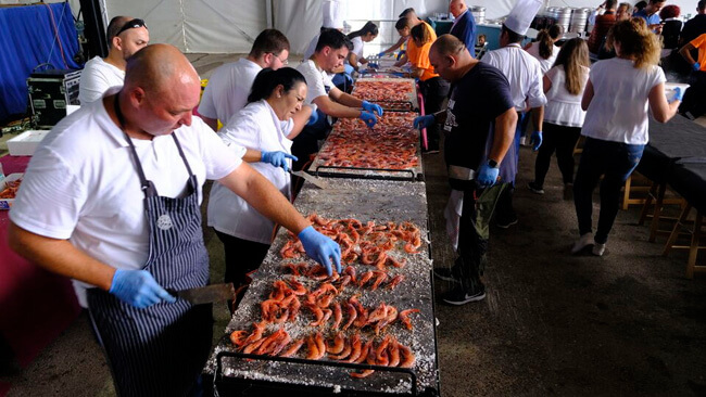
[[[544,194],[544,177],[550,169],[552,154],[556,151],[562,177],[564,198],[570,200],[573,191],[573,146],[581,135],[585,112],[581,108],[583,89],[589,79],[589,47],[581,38],[567,41],[562,47],[554,67],[544,75],[544,140],[537,153],[534,180],[529,189]]]

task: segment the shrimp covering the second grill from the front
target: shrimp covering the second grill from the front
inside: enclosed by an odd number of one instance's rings
[[[371,130],[358,119],[341,119],[318,152],[330,167],[409,169],[419,166],[416,113],[386,113]]]

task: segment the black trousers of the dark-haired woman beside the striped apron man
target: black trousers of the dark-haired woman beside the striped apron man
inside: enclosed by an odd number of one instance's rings
[[[238,239],[215,231],[226,254],[226,274],[224,281],[235,287],[245,283],[245,274],[257,269],[269,251],[269,244]]]

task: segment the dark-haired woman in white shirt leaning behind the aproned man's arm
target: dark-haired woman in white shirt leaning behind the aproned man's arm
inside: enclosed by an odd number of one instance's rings
[[[292,139],[312,115],[310,106],[302,108],[305,98],[306,80],[299,71],[265,68],[253,81],[248,105],[218,132],[236,155],[247,148],[243,159],[290,198],[287,170],[297,159],[291,155]],[[225,281],[238,287],[265,258],[275,225],[218,182],[211,189],[207,217],[225,247]]]

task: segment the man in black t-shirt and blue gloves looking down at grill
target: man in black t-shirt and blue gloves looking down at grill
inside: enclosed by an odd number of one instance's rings
[[[452,188],[446,213],[449,229],[457,231],[459,255],[453,267],[434,269],[434,274],[454,281],[442,299],[463,305],[486,297],[480,274],[487,260],[488,219],[503,188],[496,183],[499,164],[515,137],[517,112],[503,73],[475,60],[457,38],[439,37],[429,60],[453,90],[445,111],[417,117],[415,127],[444,126]]]

